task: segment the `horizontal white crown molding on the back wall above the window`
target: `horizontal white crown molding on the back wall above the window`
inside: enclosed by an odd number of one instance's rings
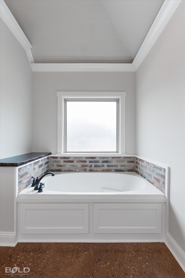
[[[67,63],[67,64],[30,64],[32,71],[91,71],[123,72],[135,71],[132,64]]]

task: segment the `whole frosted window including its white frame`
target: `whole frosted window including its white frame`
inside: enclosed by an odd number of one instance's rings
[[[125,92],[57,96],[58,154],[125,153]]]

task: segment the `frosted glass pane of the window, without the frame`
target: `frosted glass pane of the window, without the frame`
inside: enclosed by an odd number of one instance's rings
[[[116,100],[66,100],[66,152],[117,152]]]

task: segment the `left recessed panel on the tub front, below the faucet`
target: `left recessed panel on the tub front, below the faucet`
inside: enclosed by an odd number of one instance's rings
[[[21,233],[88,233],[88,204],[20,205]]]

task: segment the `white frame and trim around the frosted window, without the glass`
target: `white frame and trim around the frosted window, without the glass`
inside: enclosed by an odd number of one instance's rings
[[[125,154],[125,97],[126,92],[57,92],[57,103],[58,103],[58,110],[57,110],[57,154],[74,154],[74,155],[87,155],[93,154],[93,156],[99,156],[100,154],[109,154],[108,152],[102,153],[95,153],[95,152],[65,152],[65,144],[64,144],[64,105],[65,100],[70,99],[112,99],[112,100],[119,100],[119,119],[118,119],[118,152],[111,152],[110,154]]]

